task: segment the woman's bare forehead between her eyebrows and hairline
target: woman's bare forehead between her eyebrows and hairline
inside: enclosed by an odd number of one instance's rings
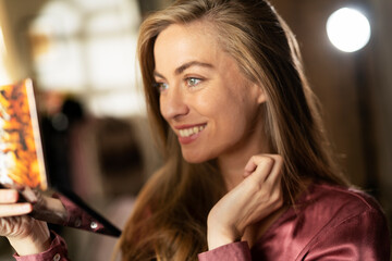
[[[209,23],[173,24],[162,30],[154,46],[157,70],[192,60],[218,61],[223,54]]]

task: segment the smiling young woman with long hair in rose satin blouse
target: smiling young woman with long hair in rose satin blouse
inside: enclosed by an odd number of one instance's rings
[[[335,166],[296,40],[267,1],[176,1],[143,23],[138,53],[164,164],[123,260],[389,260],[384,215]],[[20,256],[66,260],[45,224],[15,217],[32,206],[0,195]]]

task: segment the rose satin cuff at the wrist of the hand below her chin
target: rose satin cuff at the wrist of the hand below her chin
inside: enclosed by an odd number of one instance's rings
[[[199,261],[252,261],[250,249],[246,241],[231,243],[198,254]]]

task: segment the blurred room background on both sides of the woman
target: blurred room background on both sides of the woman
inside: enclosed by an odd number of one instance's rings
[[[122,227],[159,166],[135,60],[138,26],[170,0],[0,0],[0,84],[34,80],[53,187],[72,188]],[[328,134],[350,181],[392,222],[392,1],[271,0],[301,45]],[[328,17],[350,7],[371,26],[356,52],[336,49]],[[354,37],[355,38],[355,37]],[[54,227],[72,260],[109,260],[114,239]],[[12,249],[0,240],[0,259]]]

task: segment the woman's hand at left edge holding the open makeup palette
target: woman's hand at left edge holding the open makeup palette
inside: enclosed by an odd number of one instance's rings
[[[50,247],[47,224],[26,215],[33,206],[17,200],[15,189],[0,189],[0,236],[5,236],[20,256],[47,250]]]

